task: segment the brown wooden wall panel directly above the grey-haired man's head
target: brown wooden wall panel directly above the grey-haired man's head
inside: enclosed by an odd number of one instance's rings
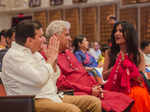
[[[50,10],[49,11],[49,20],[48,20],[48,24],[51,21],[54,20],[62,20],[63,19],[63,12],[62,10]]]

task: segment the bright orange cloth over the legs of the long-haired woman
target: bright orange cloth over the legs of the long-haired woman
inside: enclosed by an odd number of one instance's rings
[[[150,112],[150,95],[146,88],[132,87],[129,96],[134,99],[130,112]]]

